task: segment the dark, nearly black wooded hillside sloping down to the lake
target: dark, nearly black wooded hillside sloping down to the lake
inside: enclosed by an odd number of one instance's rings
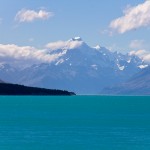
[[[0,95],[75,95],[73,92],[0,83]]]

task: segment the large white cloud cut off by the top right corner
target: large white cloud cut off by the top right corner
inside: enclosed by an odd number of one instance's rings
[[[140,27],[150,26],[150,1],[126,8],[123,11],[124,16],[113,20],[110,28],[118,33],[125,33]]]

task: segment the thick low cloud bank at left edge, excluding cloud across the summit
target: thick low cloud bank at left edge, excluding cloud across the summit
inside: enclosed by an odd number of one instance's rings
[[[30,46],[17,46],[14,44],[0,44],[0,59],[6,63],[35,64],[52,62],[62,56],[62,53],[50,54],[47,49],[39,50]]]

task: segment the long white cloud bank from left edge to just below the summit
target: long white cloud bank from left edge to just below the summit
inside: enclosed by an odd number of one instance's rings
[[[32,65],[38,63],[51,63],[66,53],[65,50],[80,47],[83,41],[58,41],[46,44],[45,48],[38,49],[31,46],[18,46],[15,44],[0,44],[0,59],[4,63]],[[62,51],[55,52],[55,50]]]

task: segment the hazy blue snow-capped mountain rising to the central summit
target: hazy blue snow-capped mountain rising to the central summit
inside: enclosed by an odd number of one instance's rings
[[[124,82],[147,67],[137,56],[112,52],[101,46],[90,47],[80,37],[59,43],[57,47],[47,47],[49,55],[59,54],[55,61],[21,70],[8,69],[8,74],[7,69],[2,69],[0,78],[28,86],[98,94],[104,87]]]

